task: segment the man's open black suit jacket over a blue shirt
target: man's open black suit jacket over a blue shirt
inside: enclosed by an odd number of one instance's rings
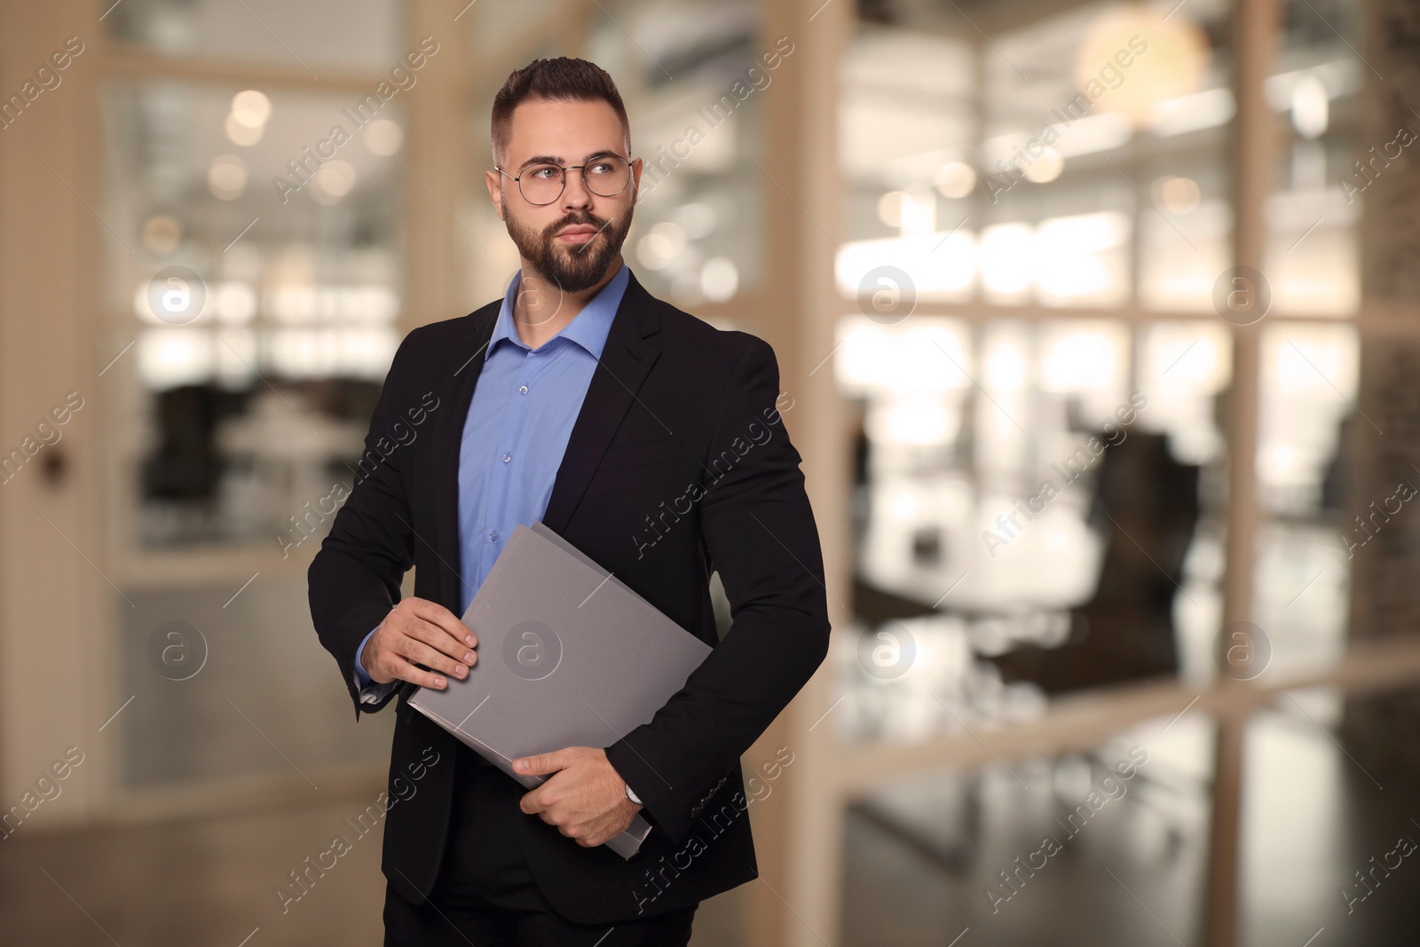
[[[500,302],[400,344],[371,419],[356,484],[310,568],[311,615],[356,718],[355,650],[415,595],[456,615],[459,446]],[[684,907],[758,875],[740,755],[828,650],[818,530],[790,443],[778,363],[630,278],[562,456],[544,522],[713,652],[652,720],[606,755],[653,825],[623,860],[523,812],[532,875],[568,919],[601,924]],[[788,399],[785,399],[788,402]],[[709,578],[733,625],[716,635]],[[487,656],[484,656],[487,660]],[[398,691],[383,872],[415,903],[446,845],[457,743]],[[437,760],[433,765],[427,765]],[[417,778],[417,782],[415,781]]]

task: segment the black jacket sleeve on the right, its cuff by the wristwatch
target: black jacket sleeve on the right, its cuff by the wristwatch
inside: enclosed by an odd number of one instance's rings
[[[730,630],[649,723],[606,748],[676,843],[828,653],[822,551],[801,457],[775,406],[778,362],[767,342],[744,338],[697,497]]]

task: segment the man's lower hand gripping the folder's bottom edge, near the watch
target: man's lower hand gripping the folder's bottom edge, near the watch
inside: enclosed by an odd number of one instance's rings
[[[537,814],[548,825],[582,848],[602,845],[630,825],[640,806],[626,798],[626,782],[605,750],[568,747],[513,761],[514,772],[527,775],[557,774],[518,802],[528,815]]]

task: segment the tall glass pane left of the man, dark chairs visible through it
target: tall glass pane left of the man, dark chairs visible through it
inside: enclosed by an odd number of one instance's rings
[[[399,342],[400,109],[172,81],[104,108],[124,542],[287,555],[351,486]]]

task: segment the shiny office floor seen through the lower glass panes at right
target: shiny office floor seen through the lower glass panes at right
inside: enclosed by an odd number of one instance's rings
[[[1416,944],[1420,865],[1397,839],[1420,841],[1417,785],[1383,775],[1382,789],[1304,703],[1248,731],[1241,943]],[[1139,737],[1149,762],[1105,784],[1119,788],[1088,819],[1069,815],[1089,792],[1083,758],[903,784],[852,809],[843,943],[940,947],[967,929],[963,944],[993,947],[1201,943],[1211,738],[1189,717]],[[1112,754],[1095,754],[1095,787]],[[1366,894],[1355,872],[1373,867]]]

